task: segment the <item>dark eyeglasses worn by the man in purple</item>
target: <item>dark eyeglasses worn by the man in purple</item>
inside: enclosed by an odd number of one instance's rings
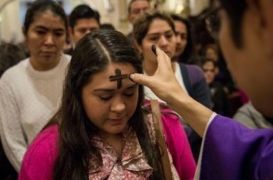
[[[218,38],[220,31],[221,22],[218,16],[218,11],[220,11],[220,9],[222,9],[221,6],[215,9],[209,9],[200,16],[201,20],[205,19],[206,28],[213,38]]]

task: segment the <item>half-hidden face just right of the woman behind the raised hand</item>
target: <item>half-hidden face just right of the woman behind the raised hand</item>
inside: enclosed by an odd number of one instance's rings
[[[176,27],[176,57],[181,55],[188,43],[188,31],[185,23],[174,21]]]

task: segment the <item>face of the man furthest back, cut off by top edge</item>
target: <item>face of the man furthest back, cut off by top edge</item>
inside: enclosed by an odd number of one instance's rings
[[[146,0],[137,0],[132,2],[131,11],[129,11],[128,20],[130,23],[134,23],[137,16],[144,14],[145,11],[150,9],[150,4]]]

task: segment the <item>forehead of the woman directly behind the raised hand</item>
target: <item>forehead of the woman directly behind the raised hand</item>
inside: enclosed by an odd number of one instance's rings
[[[155,18],[154,21],[151,22],[147,34],[161,33],[161,32],[164,33],[166,31],[170,31],[170,30],[172,30],[172,28],[168,24],[167,21],[160,19],[160,18]]]

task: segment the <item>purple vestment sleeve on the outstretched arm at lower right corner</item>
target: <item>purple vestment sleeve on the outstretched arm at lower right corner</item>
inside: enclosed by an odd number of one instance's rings
[[[200,179],[273,179],[273,130],[217,115],[204,139]]]

